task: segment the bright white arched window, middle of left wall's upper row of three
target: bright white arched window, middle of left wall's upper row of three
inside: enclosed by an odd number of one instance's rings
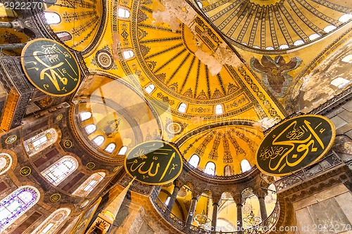
[[[58,186],[58,184],[70,176],[77,167],[78,162],[75,157],[65,156],[42,171],[42,176],[44,176],[50,183],[54,184],[54,186]]]

